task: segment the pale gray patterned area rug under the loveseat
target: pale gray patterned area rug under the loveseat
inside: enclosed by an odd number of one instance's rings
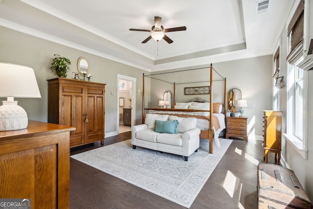
[[[220,139],[209,154],[209,140],[200,139],[200,148],[188,158],[138,147],[131,139],[72,155],[112,176],[189,208],[202,186],[220,162],[231,139]]]

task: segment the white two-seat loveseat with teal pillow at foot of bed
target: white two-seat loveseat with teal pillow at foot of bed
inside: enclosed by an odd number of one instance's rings
[[[157,121],[156,121],[157,120]],[[167,122],[165,122],[167,121]],[[177,133],[163,133],[163,126],[177,121]],[[169,115],[147,114],[145,123],[132,127],[132,144],[176,155],[188,157],[197,152],[200,143],[200,129],[196,128],[197,120],[194,117],[178,117]],[[159,124],[162,124],[161,127]],[[175,125],[174,125],[175,126]],[[165,127],[165,132],[166,131]],[[171,129],[172,131],[173,129]],[[171,132],[170,131],[170,132]]]

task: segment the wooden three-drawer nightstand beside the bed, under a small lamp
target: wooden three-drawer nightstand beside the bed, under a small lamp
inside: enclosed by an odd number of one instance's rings
[[[242,137],[248,141],[247,120],[247,117],[226,117],[226,139]]]

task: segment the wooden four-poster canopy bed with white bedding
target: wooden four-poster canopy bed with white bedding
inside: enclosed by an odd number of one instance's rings
[[[187,70],[173,71],[173,72],[164,72],[157,73],[151,75],[143,74],[143,87],[142,87],[142,123],[145,122],[145,111],[149,111],[152,114],[160,114],[160,115],[169,115],[169,116],[179,116],[179,117],[195,117],[197,118],[197,127],[201,129],[200,138],[201,139],[209,139],[209,153],[213,153],[213,141],[219,146],[219,133],[225,129],[225,114],[226,114],[226,78],[222,77],[216,70],[213,69],[212,64],[210,67],[206,68],[198,68],[191,70],[201,70],[201,69],[209,69],[210,78],[205,81],[196,81],[196,82],[188,82],[190,83],[201,83],[201,82],[209,82],[209,90],[208,90],[208,100],[205,100],[200,97],[193,98],[191,100],[185,102],[176,102],[175,98],[175,88],[177,83],[171,83],[174,86],[174,105],[172,108],[145,108],[145,93],[144,93],[144,81],[145,77],[154,78],[153,75],[167,74],[167,73],[179,73]],[[213,80],[213,70],[218,74],[219,78]],[[177,76],[178,77],[178,76]],[[160,81],[164,81],[158,79]],[[224,108],[222,102],[213,103],[213,83],[215,81],[224,81]],[[167,82],[167,81],[164,81]],[[167,82],[169,83],[169,82]],[[179,83],[179,84],[187,84],[187,83]],[[213,113],[213,114],[211,114]],[[211,122],[212,121],[212,122]]]

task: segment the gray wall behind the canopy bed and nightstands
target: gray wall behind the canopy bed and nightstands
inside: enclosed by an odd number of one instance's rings
[[[207,66],[197,66],[193,69],[208,67],[203,70],[183,71],[153,76],[168,82],[184,83],[206,81],[210,79],[209,64]],[[248,107],[244,108],[244,115],[248,117],[248,137],[249,139],[263,139],[263,110],[272,109],[272,56],[261,56],[242,60],[234,60],[221,63],[213,63],[213,68],[223,77],[226,77],[226,93],[232,88],[237,88],[242,92],[242,98],[247,100]],[[189,68],[190,69],[190,68]],[[168,70],[173,72],[186,69]],[[162,73],[164,71],[160,71]],[[154,72],[156,74],[158,72]],[[214,72],[213,80],[221,79]],[[156,79],[151,80],[151,103],[149,107],[157,107],[158,100],[163,98],[163,93],[169,91],[173,94],[174,85]],[[176,102],[185,102],[191,98],[199,96],[209,100],[208,94],[184,95],[185,87],[208,86],[209,82],[176,84]],[[224,82],[213,82],[213,102],[224,103]],[[227,97],[226,97],[227,99]],[[229,116],[229,112],[227,114]],[[240,113],[236,113],[240,115]]]

